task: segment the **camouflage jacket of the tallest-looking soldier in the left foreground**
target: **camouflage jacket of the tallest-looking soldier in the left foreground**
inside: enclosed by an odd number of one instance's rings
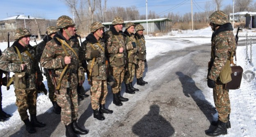
[[[57,38],[61,40],[65,40],[66,43],[71,46],[71,48],[75,51],[75,53],[78,55],[78,45],[76,42],[74,42],[71,39],[66,40],[62,33],[58,31],[54,37],[53,40],[50,40],[46,43],[45,49],[43,50],[43,54],[41,56],[41,65],[45,69],[54,69],[55,73],[58,75],[58,77],[61,75],[64,67],[66,64],[64,63],[64,57],[66,56],[66,53],[64,52],[64,49],[61,46],[61,42],[57,40]],[[66,48],[67,53],[71,56],[71,63],[69,64],[68,70],[72,70],[72,72],[78,71],[79,67],[79,60],[78,57],[76,57],[75,53],[71,51],[67,46],[64,46]]]

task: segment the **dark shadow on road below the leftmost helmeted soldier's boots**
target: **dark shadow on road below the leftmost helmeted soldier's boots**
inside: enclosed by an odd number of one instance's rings
[[[50,137],[60,123],[60,115],[53,113],[53,107],[51,107],[45,113],[37,115],[37,120],[45,123],[46,126],[36,128],[37,132],[30,134],[27,132],[25,124],[23,124],[20,130],[9,137]]]

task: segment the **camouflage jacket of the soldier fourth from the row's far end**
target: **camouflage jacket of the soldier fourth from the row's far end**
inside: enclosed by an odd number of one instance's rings
[[[98,44],[101,44],[104,51],[101,49],[100,46],[98,46]],[[92,78],[92,80],[106,80],[107,79],[107,73],[106,73],[107,68],[106,68],[106,64],[105,64],[105,62],[106,62],[105,44],[104,44],[104,42],[101,41],[101,39],[97,41],[92,33],[90,33],[86,37],[86,40],[84,42],[82,42],[82,46],[80,47],[80,50],[79,50],[80,51],[80,53],[79,53],[80,60],[82,62],[87,60],[88,66],[91,66],[92,59],[93,59],[93,58],[91,58],[91,51],[93,51],[94,49],[98,50],[101,54],[95,60],[96,64],[98,64],[99,75],[92,76],[91,78]],[[88,67],[88,69],[90,69],[90,68]]]

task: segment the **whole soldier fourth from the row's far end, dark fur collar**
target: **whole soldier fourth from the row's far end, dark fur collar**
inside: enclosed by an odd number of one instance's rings
[[[91,108],[94,110],[94,118],[104,120],[103,113],[111,114],[112,110],[105,108],[107,97],[107,68],[105,56],[105,44],[102,42],[104,26],[101,22],[91,24],[91,33],[86,37],[80,49],[80,58],[87,60],[91,80]],[[99,111],[98,111],[98,108]]]

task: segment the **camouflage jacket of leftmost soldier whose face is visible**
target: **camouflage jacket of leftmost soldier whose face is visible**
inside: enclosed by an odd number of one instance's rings
[[[22,60],[26,64],[23,71],[21,69],[20,58],[14,46],[18,48],[21,53]],[[25,53],[26,50],[31,54],[31,57]],[[37,64],[38,62],[36,60],[36,51],[34,47],[27,45],[26,48],[24,48],[18,43],[18,41],[15,41],[11,47],[5,49],[0,56],[0,69],[13,73],[25,72],[26,89],[36,88],[36,72],[38,81],[43,80],[43,76]]]

